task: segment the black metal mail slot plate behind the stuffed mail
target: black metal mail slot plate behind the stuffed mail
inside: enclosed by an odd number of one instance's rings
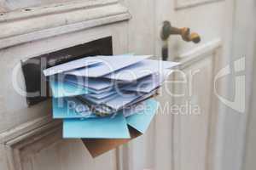
[[[112,54],[112,37],[104,37],[21,61],[26,82],[27,104],[36,105],[38,102],[49,98],[49,84],[43,75],[45,68],[84,58],[85,56]]]

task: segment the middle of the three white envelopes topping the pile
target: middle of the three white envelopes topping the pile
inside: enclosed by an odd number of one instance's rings
[[[113,71],[118,71],[129,65],[134,65],[143,59],[147,59],[151,55],[113,55],[95,57],[102,61],[99,65],[77,69],[75,71],[67,71],[65,74],[78,77],[103,77]]]

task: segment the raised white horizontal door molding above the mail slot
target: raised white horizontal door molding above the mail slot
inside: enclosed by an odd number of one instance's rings
[[[0,48],[129,20],[118,0],[79,1],[0,14]]]

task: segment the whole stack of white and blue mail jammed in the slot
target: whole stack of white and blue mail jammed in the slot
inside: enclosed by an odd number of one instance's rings
[[[63,137],[84,139],[90,154],[98,156],[112,149],[113,142],[103,139],[122,139],[117,146],[144,133],[158,108],[152,97],[178,65],[149,57],[93,56],[44,70],[53,117],[63,119]]]

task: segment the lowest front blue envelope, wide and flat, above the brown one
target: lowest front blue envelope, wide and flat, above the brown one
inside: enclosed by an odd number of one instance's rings
[[[130,139],[125,116],[66,119],[63,121],[63,138],[66,139]]]

